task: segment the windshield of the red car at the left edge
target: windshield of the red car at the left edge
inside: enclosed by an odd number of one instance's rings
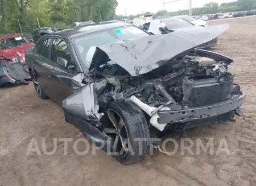
[[[0,40],[0,49],[13,48],[29,43],[23,36],[7,38]]]

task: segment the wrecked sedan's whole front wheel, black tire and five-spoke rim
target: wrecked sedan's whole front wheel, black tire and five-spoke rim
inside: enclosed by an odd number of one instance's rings
[[[148,123],[142,111],[125,102],[110,102],[104,120],[104,133],[112,138],[113,158],[122,164],[141,160],[150,143]]]

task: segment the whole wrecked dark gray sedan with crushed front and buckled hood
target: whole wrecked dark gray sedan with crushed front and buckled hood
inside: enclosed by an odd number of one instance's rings
[[[197,49],[228,26],[148,35],[126,23],[92,24],[43,36],[26,53],[40,98],[62,105],[65,121],[123,164],[142,159],[150,133],[241,115],[246,95],[229,57]]]

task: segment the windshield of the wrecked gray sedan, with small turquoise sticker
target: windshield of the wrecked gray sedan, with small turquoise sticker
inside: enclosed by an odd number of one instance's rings
[[[89,69],[96,47],[119,40],[141,38],[148,34],[134,26],[116,27],[93,32],[72,39],[77,56],[83,65]]]

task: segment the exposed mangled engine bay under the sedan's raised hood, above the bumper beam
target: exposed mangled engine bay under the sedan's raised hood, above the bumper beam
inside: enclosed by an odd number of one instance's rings
[[[228,64],[197,53],[170,60],[159,68],[139,76],[129,73],[111,60],[97,68],[94,76],[98,104],[106,108],[109,101],[130,101],[136,96],[143,103],[159,108],[161,105],[192,106],[186,97],[188,81],[233,77]],[[185,90],[186,89],[186,90]],[[184,99],[185,98],[185,99]]]

